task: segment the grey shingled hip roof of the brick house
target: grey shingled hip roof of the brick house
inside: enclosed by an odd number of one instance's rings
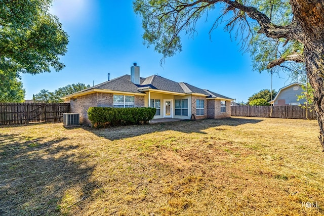
[[[185,82],[175,82],[173,80],[152,75],[147,78],[140,77],[140,84],[134,84],[131,81],[130,75],[120,76],[109,81],[97,84],[94,87],[67,95],[63,98],[72,98],[78,95],[85,95],[88,92],[100,92],[101,91],[113,91],[113,92],[127,92],[136,94],[145,94],[145,90],[161,90],[173,93],[181,94],[201,94],[205,95],[207,98],[222,98],[227,100],[233,100],[231,98],[219,95],[217,93],[210,92],[208,90],[199,89]]]

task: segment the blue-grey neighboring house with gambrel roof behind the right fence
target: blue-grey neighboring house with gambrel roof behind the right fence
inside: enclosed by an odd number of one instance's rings
[[[270,104],[274,106],[298,106],[306,102],[305,99],[297,101],[298,95],[301,95],[304,90],[302,90],[302,83],[294,82],[285,87],[279,89],[275,98],[270,101]]]

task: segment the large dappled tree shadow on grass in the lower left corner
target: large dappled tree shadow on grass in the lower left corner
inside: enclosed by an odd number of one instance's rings
[[[94,167],[78,147],[67,138],[0,136],[0,215],[58,215],[68,189],[91,194]]]

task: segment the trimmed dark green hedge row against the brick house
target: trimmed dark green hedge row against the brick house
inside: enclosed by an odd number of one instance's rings
[[[89,120],[94,127],[109,127],[119,125],[146,124],[155,115],[156,109],[142,108],[111,108],[90,107]]]

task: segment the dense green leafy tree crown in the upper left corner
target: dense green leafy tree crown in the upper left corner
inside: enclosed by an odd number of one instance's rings
[[[51,4],[52,0],[0,1],[2,91],[10,92],[21,85],[20,73],[37,74],[64,67],[59,60],[67,51],[68,36],[58,18],[48,12]],[[11,77],[15,81],[8,83]],[[10,101],[10,94],[4,99]]]

